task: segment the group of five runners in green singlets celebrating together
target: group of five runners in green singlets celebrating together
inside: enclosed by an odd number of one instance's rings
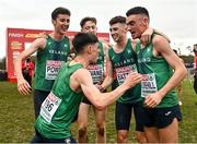
[[[109,21],[109,45],[96,37],[96,19],[83,17],[81,32],[73,39],[66,33],[70,11],[56,8],[54,31],[35,39],[14,60],[18,89],[27,95],[32,87],[22,74],[21,62],[34,52],[35,135],[32,143],[76,143],[70,125],[78,123],[78,142],[88,143],[88,119],[94,109],[96,143],[106,142],[105,118],[108,105],[116,101],[117,143],[128,142],[131,112],[139,143],[178,142],[182,113],[174,88],[187,70],[170,47],[169,38],[149,26],[146,8],[135,7],[126,17]],[[127,33],[131,38],[127,37]],[[76,57],[67,62],[69,53]],[[107,87],[113,85],[111,92]]]

